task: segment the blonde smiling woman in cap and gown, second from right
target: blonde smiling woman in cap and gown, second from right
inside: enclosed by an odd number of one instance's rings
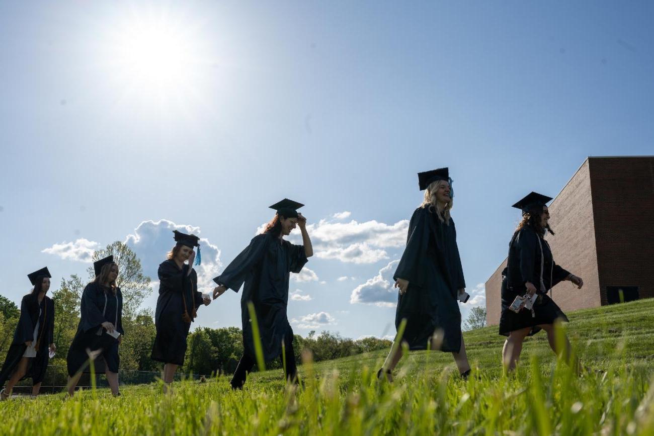
[[[456,227],[450,216],[453,180],[449,169],[418,174],[424,190],[422,204],[409,222],[407,244],[393,278],[399,288],[396,329],[406,326],[401,343],[409,350],[451,352],[462,377],[470,374],[470,363],[461,333],[460,295],[466,282],[456,245]],[[466,300],[467,301],[467,300]],[[377,377],[392,380],[392,370],[402,358],[402,346],[394,344]]]

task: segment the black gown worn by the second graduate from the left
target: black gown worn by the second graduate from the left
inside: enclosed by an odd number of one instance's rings
[[[92,351],[100,350],[99,356],[94,361],[95,373],[104,373],[105,366],[112,373],[118,372],[118,366],[120,365],[118,341],[109,336],[104,327],[101,327],[101,324],[105,321],[114,324],[114,327],[121,335],[125,333],[122,328],[122,293],[120,288],[116,288],[116,295],[114,295],[109,289],[105,292],[105,289],[96,282],[89,283],[82,292],[80,322],[77,325],[77,333],[75,333],[66,358],[69,376],[73,377],[88,361],[87,348]],[[97,335],[100,328],[102,329],[101,335]],[[90,372],[90,367],[84,368],[84,372]]]

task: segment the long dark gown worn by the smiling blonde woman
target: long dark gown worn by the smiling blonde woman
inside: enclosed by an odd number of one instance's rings
[[[434,331],[441,330],[441,351],[461,349],[461,312],[457,292],[466,287],[456,246],[454,220],[441,222],[429,208],[419,207],[409,222],[407,246],[393,278],[409,280],[398,293],[395,326],[404,318],[404,340],[411,350],[426,350]]]

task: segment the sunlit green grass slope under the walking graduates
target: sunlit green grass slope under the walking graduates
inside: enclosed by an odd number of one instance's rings
[[[465,333],[477,377],[460,380],[451,354],[412,352],[391,385],[375,372],[385,352],[229,378],[43,395],[0,403],[2,435],[385,435],[654,434],[654,299],[569,314],[568,336],[591,371],[557,361],[545,333],[527,339],[522,364],[502,374],[496,327]],[[598,371],[602,370],[602,371]]]

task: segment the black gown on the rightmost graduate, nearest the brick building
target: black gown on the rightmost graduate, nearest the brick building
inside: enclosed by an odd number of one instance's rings
[[[508,336],[511,331],[532,327],[529,333],[531,336],[540,331],[539,324],[552,324],[557,319],[568,321],[566,314],[547,295],[547,290],[565,280],[570,273],[555,263],[549,244],[532,227],[525,226],[513,234],[509,243],[507,267],[502,271],[502,275],[500,335]],[[541,289],[541,277],[545,290]],[[508,309],[517,295],[525,295],[526,282],[534,284],[538,293],[538,299],[534,303],[534,316],[528,309],[519,313]]]

